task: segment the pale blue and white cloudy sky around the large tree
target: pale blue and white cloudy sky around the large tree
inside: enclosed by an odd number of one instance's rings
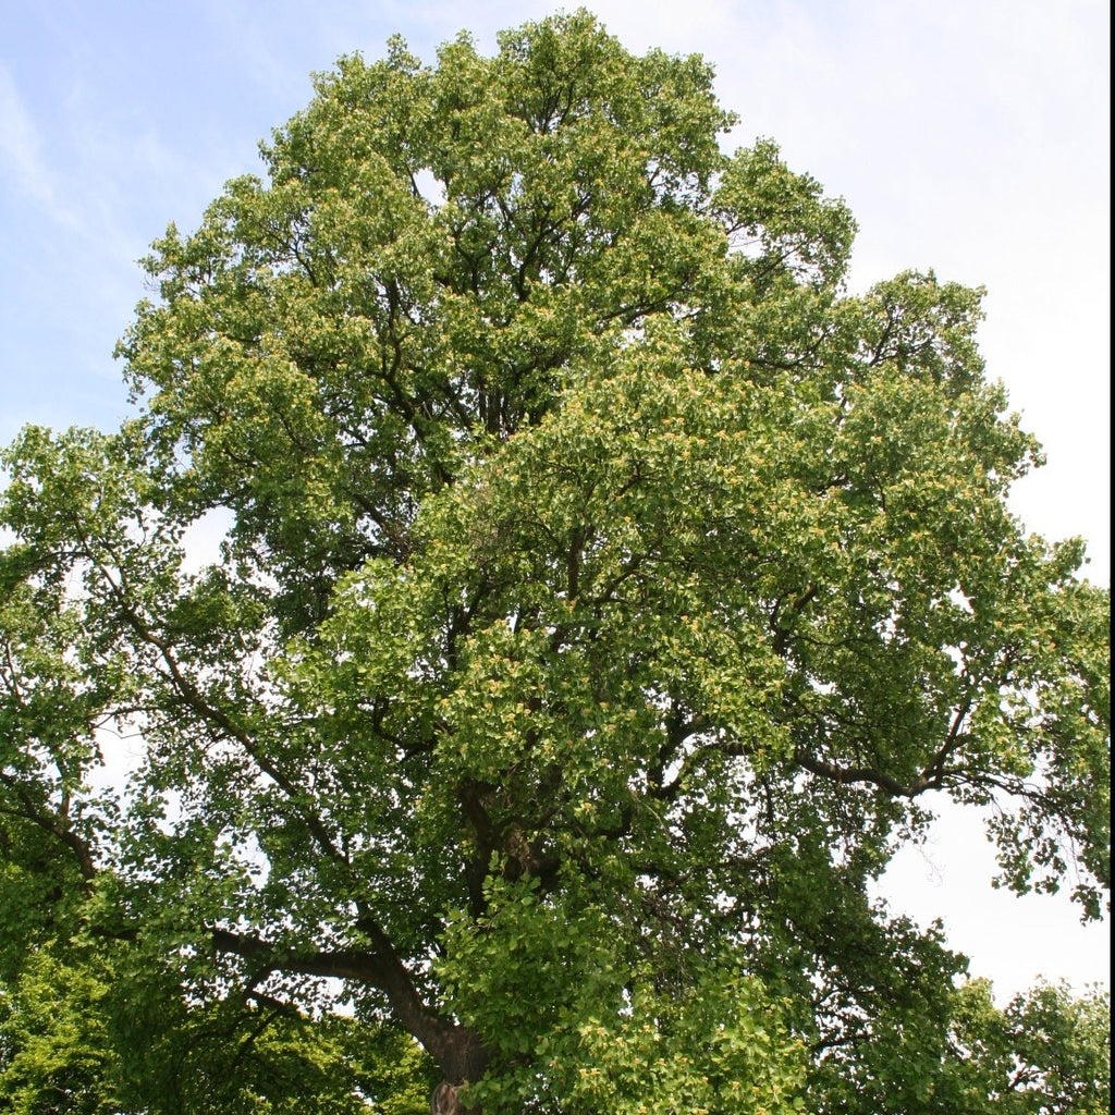
[[[570,4],[575,7],[575,4]],[[628,49],[700,52],[740,116],[860,224],[851,289],[915,268],[987,288],[988,374],[1048,464],[1014,510],[1083,535],[1111,582],[1109,6],[1106,0],[599,0]],[[114,427],[137,260],[196,226],[342,54],[438,43],[555,10],[523,2],[0,0],[0,444],[26,423]],[[1038,976],[1109,987],[1109,923],[992,892],[973,818],[947,811],[883,881],[940,917],[999,997]]]

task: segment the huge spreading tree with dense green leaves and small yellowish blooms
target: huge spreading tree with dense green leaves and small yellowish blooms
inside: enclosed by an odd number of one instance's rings
[[[135,417],[7,450],[4,979],[162,1005],[136,1095],[390,1019],[472,1111],[960,1109],[1002,1045],[870,883],[944,796],[1109,888],[1108,592],[1007,510],[980,292],[849,294],[701,59],[500,43],[320,76],[154,245]]]

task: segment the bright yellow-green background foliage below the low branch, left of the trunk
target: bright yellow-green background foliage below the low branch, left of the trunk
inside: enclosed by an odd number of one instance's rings
[[[0,1109],[26,1115],[425,1115],[432,1066],[400,1030],[43,950],[0,993]]]

